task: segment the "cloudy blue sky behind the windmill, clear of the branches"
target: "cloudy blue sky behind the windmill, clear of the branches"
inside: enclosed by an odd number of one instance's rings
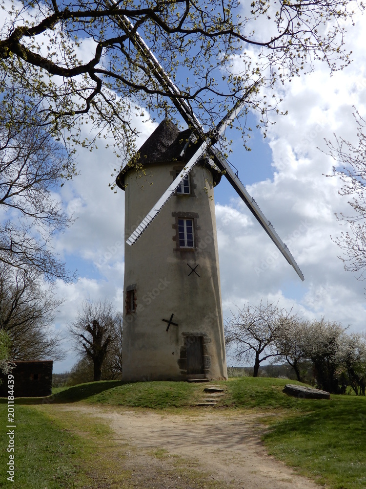
[[[281,88],[281,109],[288,115],[274,119],[265,141],[254,132],[250,153],[244,152],[239,134],[234,141],[230,161],[288,245],[305,282],[223,178],[215,202],[226,318],[247,301],[257,304],[263,299],[279,301],[305,318],[325,316],[352,331],[365,329],[366,284],[344,271],[337,258],[340,250],[330,238],[342,230],[335,213],[347,212],[347,202],[338,195],[339,181],[324,176],[331,173],[333,160],[318,149],[325,149],[324,138],[332,139],[333,133],[354,140],[353,105],[365,114],[365,32],[366,16],[358,14],[346,36],[353,63],[344,71],[330,77],[327,68],[317,64],[313,73]],[[139,124],[142,144],[157,123]],[[65,333],[68,356],[55,364],[55,372],[69,370],[76,361],[66,324],[84,298],[108,298],[122,310],[124,194],[108,188],[115,157],[101,145],[92,153],[80,151],[78,165],[80,176],[61,189],[65,208],[78,219],[54,242],[61,259],[78,270],[75,283],[58,284],[57,293],[65,301],[55,328]]]

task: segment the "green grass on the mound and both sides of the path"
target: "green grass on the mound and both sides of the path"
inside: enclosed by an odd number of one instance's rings
[[[215,408],[209,409],[216,409],[223,415],[235,410],[268,413],[268,417],[261,419],[268,426],[263,441],[270,454],[298,467],[300,473],[329,488],[365,489],[366,398],[334,395],[331,400],[297,399],[282,392],[285,383],[288,380],[249,377],[215,382],[225,388],[225,395]],[[77,428],[71,430],[68,415],[57,409],[60,403],[85,402],[193,412],[200,409],[193,406],[202,398],[202,391],[202,384],[186,382],[123,384],[102,381],[57,389],[53,396],[44,400],[16,400],[17,478],[15,483],[6,480],[4,467],[9,461],[9,453],[1,449],[0,487],[98,487],[93,486],[91,471],[102,473],[107,470],[101,455],[105,453],[107,458],[110,450],[109,428],[97,422],[93,426],[78,422]],[[49,410],[52,417],[38,407],[42,403],[52,406]],[[1,400],[3,447],[7,446],[6,410],[5,400]],[[123,453],[119,456],[123,457]],[[118,477],[115,487],[128,489],[127,475],[120,473]]]

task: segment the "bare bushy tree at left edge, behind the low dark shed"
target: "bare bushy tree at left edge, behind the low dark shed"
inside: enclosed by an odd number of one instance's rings
[[[62,337],[53,320],[62,301],[34,270],[0,262],[0,329],[10,337],[13,360],[62,360]]]

